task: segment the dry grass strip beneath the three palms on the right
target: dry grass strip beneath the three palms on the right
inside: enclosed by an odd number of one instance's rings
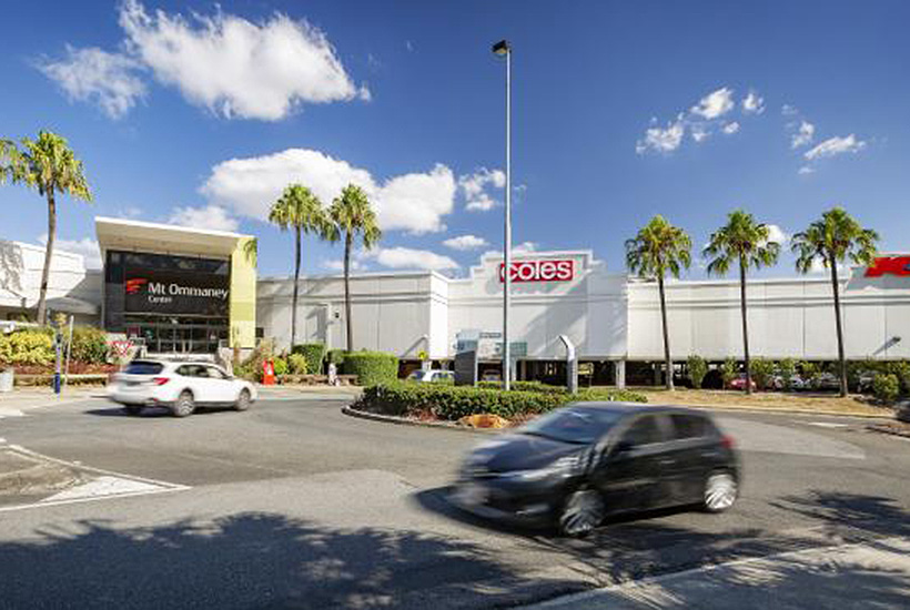
[[[655,387],[636,387],[655,405],[683,405],[697,407],[744,408],[780,411],[816,411],[838,415],[893,415],[893,409],[870,404],[860,395],[841,398],[836,394],[756,392],[747,396],[742,392],[679,388],[667,392]]]

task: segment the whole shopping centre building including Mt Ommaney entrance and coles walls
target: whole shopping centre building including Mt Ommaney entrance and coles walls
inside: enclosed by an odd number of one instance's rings
[[[58,252],[49,307],[105,328],[149,353],[212,353],[253,347],[261,337],[291,343],[293,279],[256,278],[250,235],[99,217],[102,271]],[[43,247],[0,242],[0,319],[33,309]],[[502,257],[485,255],[465,277],[435,272],[352,276],[356,349],[390,352],[403,360],[426,352],[439,363],[476,347],[487,366],[501,348]],[[514,256],[510,335],[519,378],[558,373],[560,336],[593,364],[598,382],[641,375],[663,358],[657,286],[610,270],[590,251]],[[837,338],[826,274],[755,278],[748,286],[750,346],[755,356],[831,360]],[[673,357],[709,360],[742,353],[739,284],[667,283]],[[882,256],[842,282],[848,358],[910,358],[910,256]],[[295,343],[344,347],[341,275],[300,281]],[[628,365],[627,365],[628,363]]]

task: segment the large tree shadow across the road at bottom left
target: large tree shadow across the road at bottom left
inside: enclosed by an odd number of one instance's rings
[[[556,596],[474,545],[328,529],[274,514],[124,528],[104,520],[0,543],[4,608],[446,608]],[[515,597],[515,593],[518,597]],[[468,603],[472,602],[473,603]]]

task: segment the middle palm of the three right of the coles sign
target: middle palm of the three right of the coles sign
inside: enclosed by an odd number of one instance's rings
[[[768,241],[767,224],[757,223],[751,214],[735,210],[727,216],[727,224],[711,234],[704,255],[711,257],[708,273],[726,275],[734,263],[739,264],[739,311],[742,316],[742,353],[746,365],[746,394],[752,393],[752,374],[749,359],[749,326],[746,315],[746,272],[749,267],[761,268],[777,263],[780,244]]]

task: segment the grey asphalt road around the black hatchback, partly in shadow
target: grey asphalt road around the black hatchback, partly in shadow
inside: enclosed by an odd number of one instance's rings
[[[0,608],[513,607],[910,537],[910,443],[860,420],[719,415],[744,458],[731,512],[644,515],[579,541],[448,507],[444,488],[478,435],[354,419],[342,405],[263,400],[175,419],[88,400],[0,419],[8,444],[185,486],[0,511]]]

